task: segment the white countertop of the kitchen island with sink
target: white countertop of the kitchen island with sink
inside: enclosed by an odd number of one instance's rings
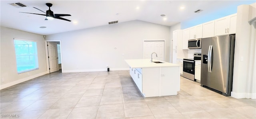
[[[151,59],[127,59],[125,61],[132,68],[176,67],[176,66],[180,66],[178,64],[172,64],[172,63],[164,62],[164,61],[160,61],[160,60],[153,59],[153,62],[151,62],[150,60]],[[164,63],[154,63],[155,61],[160,61],[160,62],[164,62]]]

